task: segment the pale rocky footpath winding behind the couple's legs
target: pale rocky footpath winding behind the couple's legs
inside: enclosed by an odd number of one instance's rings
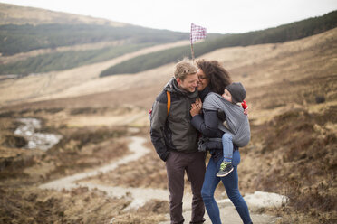
[[[125,195],[129,195],[132,197],[133,201],[130,206],[125,210],[137,209],[140,206],[144,205],[146,201],[152,199],[166,200],[168,201],[169,195],[168,191],[161,189],[149,189],[149,188],[124,188],[124,187],[111,187],[105,186],[101,184],[96,184],[92,182],[80,182],[82,179],[99,175],[101,173],[108,173],[116,169],[120,164],[130,163],[132,161],[137,160],[141,156],[148,154],[149,149],[144,147],[142,144],[146,141],[146,139],[142,137],[131,137],[131,143],[129,145],[130,151],[132,154],[126,155],[120,158],[117,161],[114,161],[108,165],[99,167],[95,170],[85,173],[77,173],[71,176],[64,177],[62,179],[55,180],[53,182],[47,182],[39,187],[41,189],[52,189],[57,191],[71,190],[72,188],[77,187],[88,187],[89,189],[98,189],[101,191],[105,191],[108,196],[111,197],[122,197]],[[191,195],[186,193],[184,195],[183,201],[183,209],[184,209],[184,218],[186,222],[189,222],[191,216]],[[242,223],[240,217],[238,216],[234,206],[228,200],[218,201],[218,205],[221,212],[221,218],[224,223]],[[249,206],[249,204],[248,204]],[[276,218],[264,214],[255,214],[251,213],[252,219],[254,223],[275,223]],[[169,216],[167,215],[169,220]],[[209,220],[207,213],[205,214],[205,218],[207,221],[205,223],[211,223]],[[168,224],[169,221],[161,222],[160,224]]]

